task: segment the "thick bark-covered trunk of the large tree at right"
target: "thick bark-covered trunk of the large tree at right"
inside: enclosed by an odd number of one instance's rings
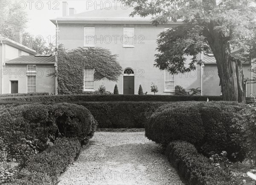
[[[222,88],[224,101],[238,101],[245,103],[244,75],[242,64],[239,59],[231,55],[228,38],[224,37],[221,32],[217,32],[214,27],[216,23],[210,22],[209,29],[204,30],[204,36],[212,40],[209,46],[216,59],[218,67],[218,76]]]

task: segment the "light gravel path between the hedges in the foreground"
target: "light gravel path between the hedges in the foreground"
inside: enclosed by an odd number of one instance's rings
[[[59,185],[183,185],[161,148],[144,132],[96,132]]]

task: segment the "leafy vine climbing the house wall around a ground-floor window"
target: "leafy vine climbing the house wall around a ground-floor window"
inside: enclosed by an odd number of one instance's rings
[[[82,94],[84,69],[94,68],[94,80],[117,81],[122,67],[117,55],[103,48],[77,48],[70,52],[63,45],[58,48],[58,94]]]

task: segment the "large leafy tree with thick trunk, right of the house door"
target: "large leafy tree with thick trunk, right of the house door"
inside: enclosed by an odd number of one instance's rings
[[[157,40],[155,66],[169,72],[189,72],[202,64],[197,55],[211,51],[225,101],[245,102],[244,75],[233,48],[246,49],[255,32],[254,0],[123,0],[134,7],[130,15],[152,16],[153,25],[183,20],[183,24],[162,32]],[[189,65],[186,55],[192,55]]]

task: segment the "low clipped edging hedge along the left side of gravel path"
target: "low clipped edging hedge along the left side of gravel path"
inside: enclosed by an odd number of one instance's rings
[[[53,146],[31,156],[17,174],[14,185],[55,185],[58,176],[79,155],[81,144],[77,139],[57,139]]]

